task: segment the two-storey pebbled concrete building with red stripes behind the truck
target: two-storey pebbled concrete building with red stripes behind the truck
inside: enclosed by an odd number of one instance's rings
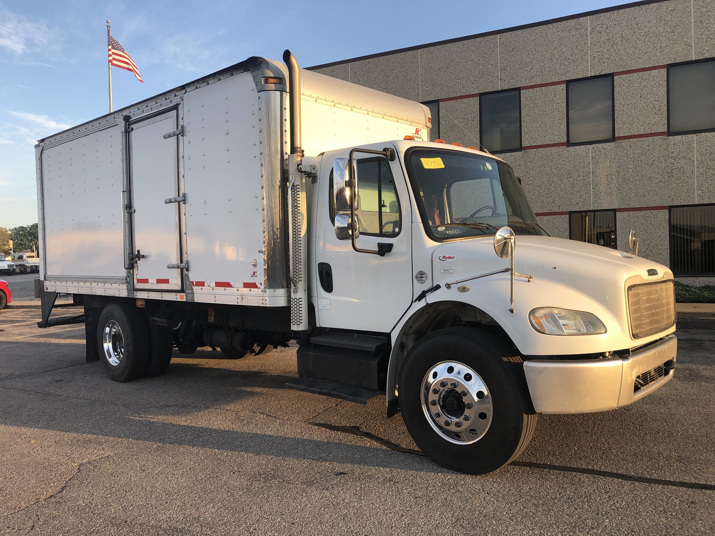
[[[311,67],[500,154],[553,236],[715,283],[715,0],[649,0]]]

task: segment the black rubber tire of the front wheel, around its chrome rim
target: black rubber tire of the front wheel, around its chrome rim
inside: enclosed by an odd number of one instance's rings
[[[510,346],[481,329],[449,327],[428,334],[408,352],[398,384],[400,410],[415,443],[442,467],[469,475],[483,475],[518,457],[531,440],[538,415],[533,411],[528,394],[523,361]],[[492,416],[487,430],[475,442],[450,442],[435,430],[433,426],[441,426],[438,420],[430,422],[431,412],[442,406],[426,410],[430,417],[425,414],[423,398],[431,396],[429,388],[424,390],[425,374],[440,362],[467,365],[488,388]],[[484,396],[483,392],[480,394]],[[425,407],[429,406],[425,404]],[[476,402],[474,407],[477,407]],[[481,419],[481,415],[486,414],[480,413],[478,418]],[[475,420],[477,416],[470,418]],[[463,424],[464,428],[453,430],[462,432],[470,440],[466,429],[473,423]],[[461,421],[459,425],[462,426]],[[448,432],[450,430],[443,429],[442,433],[448,435]]]

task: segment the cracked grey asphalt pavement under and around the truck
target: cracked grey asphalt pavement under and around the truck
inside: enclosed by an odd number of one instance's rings
[[[715,533],[715,319],[679,322],[659,391],[542,416],[516,463],[467,476],[421,455],[384,397],[287,389],[295,348],[175,353],[118,384],[84,363],[84,326],[38,317],[0,312],[4,534]]]

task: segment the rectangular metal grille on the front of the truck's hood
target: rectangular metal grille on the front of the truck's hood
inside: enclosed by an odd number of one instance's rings
[[[675,324],[673,280],[628,287],[628,315],[633,339],[648,337]]]

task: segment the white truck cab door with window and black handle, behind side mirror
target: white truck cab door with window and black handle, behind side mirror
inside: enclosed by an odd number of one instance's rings
[[[381,147],[369,147],[383,149]],[[360,154],[356,154],[360,157]],[[321,327],[390,332],[413,299],[412,214],[408,185],[398,160],[358,158],[360,249],[391,244],[384,257],[356,252],[335,236],[332,160],[322,159],[318,180],[316,247],[312,262],[317,323]],[[384,247],[384,246],[383,246]],[[388,246],[389,247],[389,246]]]

